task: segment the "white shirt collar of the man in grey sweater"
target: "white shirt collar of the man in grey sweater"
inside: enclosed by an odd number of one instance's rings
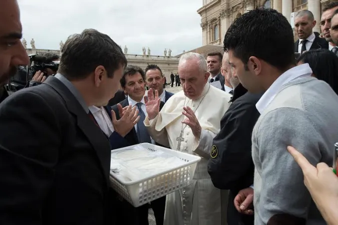
[[[271,86],[256,103],[256,108],[259,113],[262,114],[264,109],[269,105],[284,84],[290,82],[291,80],[309,77],[311,74],[312,70],[308,63],[297,65],[285,71],[271,84]]]

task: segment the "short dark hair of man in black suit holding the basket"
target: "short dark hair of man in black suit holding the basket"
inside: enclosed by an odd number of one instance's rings
[[[103,65],[108,77],[127,65],[121,47],[107,34],[95,29],[85,29],[68,37],[62,48],[59,72],[69,79],[86,78],[95,68]]]

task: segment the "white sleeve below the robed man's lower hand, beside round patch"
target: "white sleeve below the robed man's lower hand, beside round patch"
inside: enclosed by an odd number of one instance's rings
[[[202,129],[199,140],[195,138],[194,146],[197,146],[193,147],[193,151],[196,154],[199,154],[201,157],[210,158],[212,140],[215,136],[215,133],[206,129]]]

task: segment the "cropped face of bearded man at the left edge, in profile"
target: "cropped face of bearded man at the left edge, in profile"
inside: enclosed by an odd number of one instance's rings
[[[21,43],[22,26],[17,0],[4,0],[0,8],[0,102],[8,97],[5,85],[17,73],[19,65],[28,65],[29,58]]]

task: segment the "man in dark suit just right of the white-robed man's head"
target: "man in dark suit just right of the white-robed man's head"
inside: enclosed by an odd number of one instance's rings
[[[224,90],[224,76],[221,73],[223,55],[219,51],[210,52],[207,55],[208,72],[210,73],[208,82],[220,82],[220,87]]]

